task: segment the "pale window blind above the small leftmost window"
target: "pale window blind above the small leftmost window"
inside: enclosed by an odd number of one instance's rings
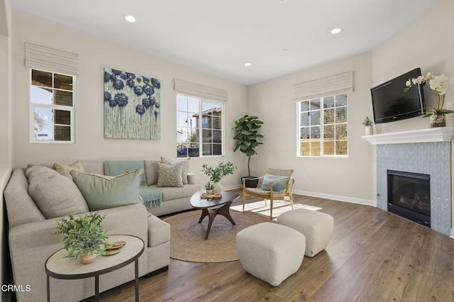
[[[79,55],[26,43],[26,67],[62,74],[79,74]]]

